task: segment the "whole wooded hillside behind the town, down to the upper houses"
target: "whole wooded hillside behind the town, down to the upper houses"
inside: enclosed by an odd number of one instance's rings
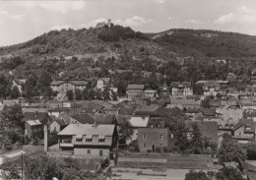
[[[218,59],[226,63],[217,63]],[[143,33],[112,25],[52,30],[30,41],[1,47],[0,79],[9,85],[5,87],[10,87],[13,79],[27,79],[32,95],[49,91],[50,82],[58,79],[87,80],[93,88],[98,77],[111,77],[120,94],[129,83],[160,88],[160,79],[141,78],[135,74],[138,71],[166,74],[168,84],[225,80],[233,73],[234,80],[246,85],[255,59],[255,36],[214,30]],[[128,71],[116,74],[119,70]],[[4,91],[2,96],[8,96],[10,90]]]

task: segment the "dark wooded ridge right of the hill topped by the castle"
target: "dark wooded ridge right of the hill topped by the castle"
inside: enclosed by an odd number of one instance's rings
[[[149,35],[160,46],[191,56],[256,56],[256,36],[216,30],[166,30]]]

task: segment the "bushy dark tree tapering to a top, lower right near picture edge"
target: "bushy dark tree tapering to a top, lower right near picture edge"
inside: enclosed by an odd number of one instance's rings
[[[219,150],[220,162],[244,160],[246,158],[246,150],[230,135],[224,134],[221,149]]]

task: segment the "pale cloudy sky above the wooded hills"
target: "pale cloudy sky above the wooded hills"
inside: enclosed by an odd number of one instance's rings
[[[0,46],[49,30],[89,29],[108,19],[143,32],[182,28],[256,35],[256,0],[5,0]]]

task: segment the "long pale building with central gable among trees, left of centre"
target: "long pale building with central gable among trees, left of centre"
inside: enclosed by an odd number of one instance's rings
[[[50,87],[54,91],[66,92],[67,90],[85,90],[87,84],[88,82],[84,80],[60,80],[51,82]]]

